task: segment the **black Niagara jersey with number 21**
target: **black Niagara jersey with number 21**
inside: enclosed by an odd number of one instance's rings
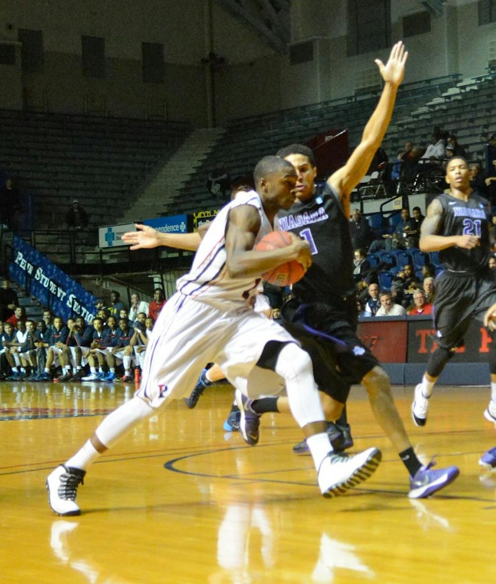
[[[438,235],[475,235],[480,245],[474,249],[458,246],[442,249],[439,259],[450,272],[477,272],[487,267],[490,250],[489,225],[491,208],[487,200],[471,193],[469,200],[456,199],[448,193],[438,197],[443,207],[443,220]]]

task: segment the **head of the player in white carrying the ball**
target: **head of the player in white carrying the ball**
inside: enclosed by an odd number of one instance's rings
[[[266,210],[289,209],[296,200],[296,171],[285,159],[278,156],[262,158],[255,166],[253,178],[256,192],[261,196]]]

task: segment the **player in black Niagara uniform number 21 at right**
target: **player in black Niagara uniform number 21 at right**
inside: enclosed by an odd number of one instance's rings
[[[464,158],[453,157],[446,165],[449,193],[432,201],[422,223],[420,249],[439,251],[445,268],[436,280],[434,325],[438,348],[431,354],[421,383],[415,387],[412,417],[417,426],[427,420],[429,398],[446,363],[455,349],[463,345],[463,336],[471,319],[482,320],[496,303],[496,277],[488,260],[491,240],[491,208],[487,200],[470,186],[471,172]],[[490,314],[490,311],[488,311]],[[488,318],[485,319],[488,325]],[[491,400],[484,417],[496,423],[496,346],[489,350]]]

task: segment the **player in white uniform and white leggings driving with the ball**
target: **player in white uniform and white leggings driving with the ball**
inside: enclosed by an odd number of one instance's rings
[[[296,259],[305,269],[311,264],[310,247],[296,236],[286,248],[254,249],[272,231],[278,210],[294,203],[293,165],[265,157],[254,178],[256,193],[231,201],[217,214],[189,274],[178,280],[178,292],[160,312],[134,398],[110,413],[91,439],[48,475],[48,500],[58,515],[81,513],[77,488],[88,467],[137,423],[182,398],[209,361],[222,367],[240,395],[254,397],[258,387],[274,393],[286,387],[324,496],[355,486],[379,464],[381,454],[374,448],[353,457],[332,452],[310,357],[282,326],[249,306],[260,274],[287,260]]]

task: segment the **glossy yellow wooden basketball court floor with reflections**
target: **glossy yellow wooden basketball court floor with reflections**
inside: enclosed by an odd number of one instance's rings
[[[176,402],[137,427],[90,468],[82,515],[64,519],[48,507],[46,475],[134,385],[2,383],[0,582],[496,582],[496,473],[477,464],[496,445],[488,388],[436,388],[424,428],[410,419],[412,390],[394,395],[419,457],[461,470],[431,499],[407,498],[361,388],[349,402],[353,450],[380,447],[383,462],[324,499],[311,458],[292,453],[292,418],[265,415],[256,447],[224,432],[224,385],[193,411]]]

